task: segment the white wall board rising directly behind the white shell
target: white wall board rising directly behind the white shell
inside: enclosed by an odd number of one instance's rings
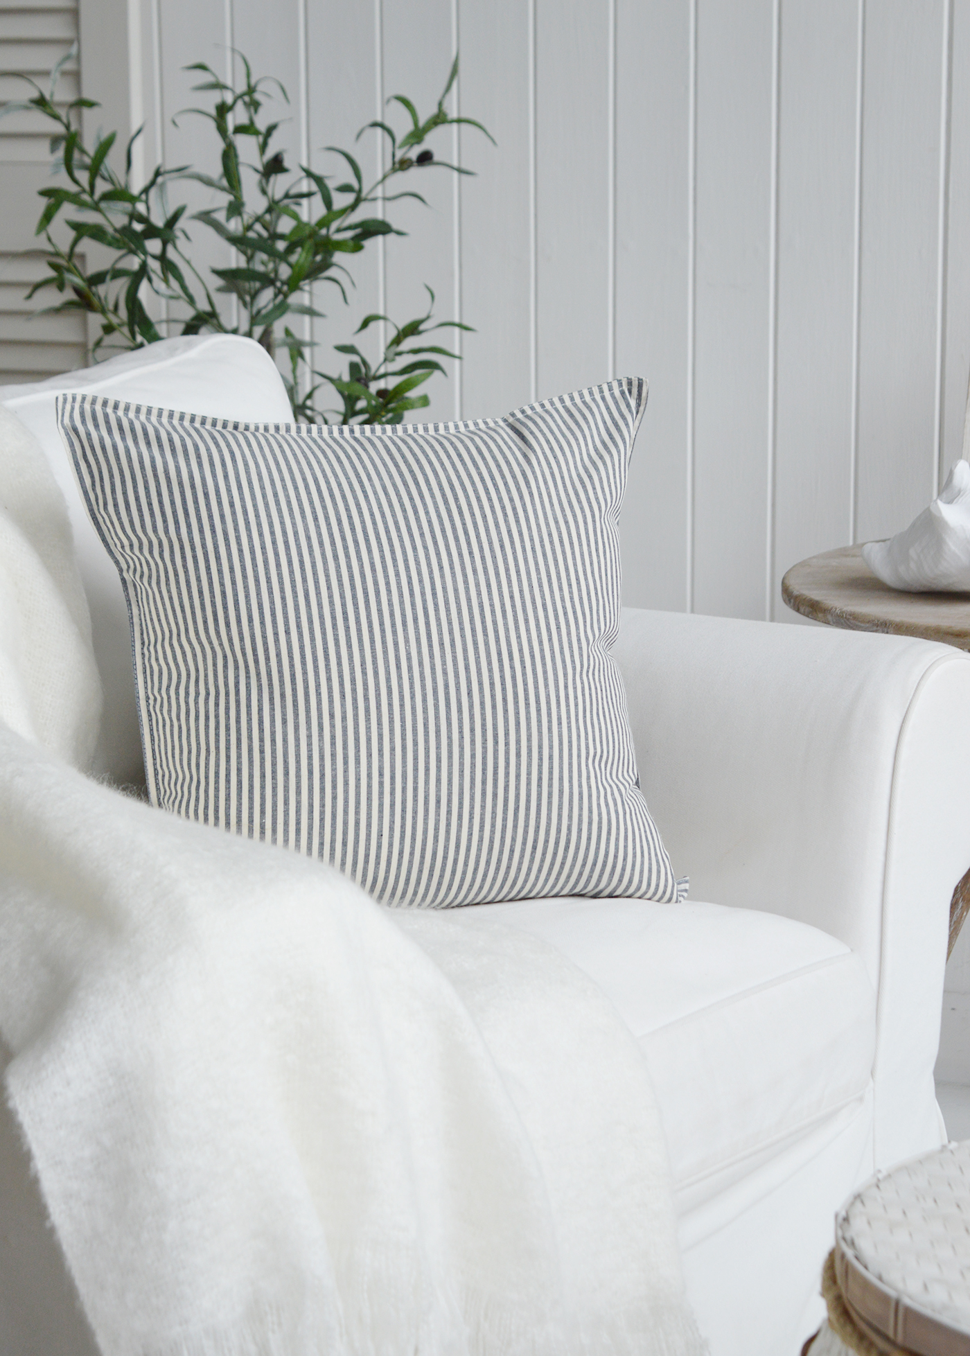
[[[867,5],[856,537],[933,494],[944,0]]]

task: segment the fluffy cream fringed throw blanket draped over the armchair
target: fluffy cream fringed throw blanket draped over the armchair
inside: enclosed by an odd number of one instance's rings
[[[7,1096],[104,1356],[703,1349],[650,1081],[579,971],[0,717]]]

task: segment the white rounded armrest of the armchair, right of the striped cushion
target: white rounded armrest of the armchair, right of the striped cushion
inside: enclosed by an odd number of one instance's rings
[[[947,923],[970,861],[970,656],[624,610],[643,793],[691,898],[838,937],[878,993],[876,1163],[939,1143]]]

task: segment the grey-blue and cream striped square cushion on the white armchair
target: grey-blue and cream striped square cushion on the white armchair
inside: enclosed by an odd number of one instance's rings
[[[60,397],[152,801],[387,903],[676,899],[610,658],[644,403],[304,427]]]

